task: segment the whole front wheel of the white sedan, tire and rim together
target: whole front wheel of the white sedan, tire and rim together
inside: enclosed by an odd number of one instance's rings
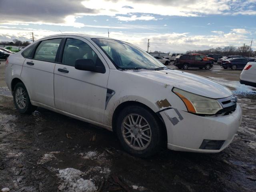
[[[146,158],[160,151],[164,141],[161,125],[157,116],[146,108],[127,106],[117,118],[116,134],[126,152]],[[145,127],[140,128],[140,126]]]

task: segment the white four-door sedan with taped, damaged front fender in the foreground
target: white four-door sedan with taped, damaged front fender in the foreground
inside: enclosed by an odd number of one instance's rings
[[[45,47],[57,51],[44,53]],[[97,36],[37,40],[10,55],[6,84],[20,113],[39,106],[106,128],[140,157],[155,154],[162,144],[220,152],[232,142],[242,117],[228,88],[168,69],[130,43]]]

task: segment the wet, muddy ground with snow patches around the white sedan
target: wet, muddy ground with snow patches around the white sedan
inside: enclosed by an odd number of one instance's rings
[[[140,159],[126,154],[107,130],[38,108],[16,112],[0,65],[0,189],[11,192],[145,191],[255,192],[256,90],[239,83],[241,70],[190,69],[230,88],[242,124],[218,154],[162,150]],[[182,83],[182,80],[181,80]]]

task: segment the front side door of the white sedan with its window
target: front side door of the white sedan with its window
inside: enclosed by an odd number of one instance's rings
[[[88,120],[103,122],[109,67],[92,44],[80,37],[66,36],[62,64],[54,69],[56,108]],[[75,69],[77,59],[91,59],[104,66],[104,74]]]

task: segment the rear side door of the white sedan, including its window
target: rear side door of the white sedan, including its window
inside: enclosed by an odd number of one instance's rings
[[[54,37],[41,41],[32,56],[26,58],[21,73],[30,100],[50,107],[54,107],[54,67],[61,40]]]

